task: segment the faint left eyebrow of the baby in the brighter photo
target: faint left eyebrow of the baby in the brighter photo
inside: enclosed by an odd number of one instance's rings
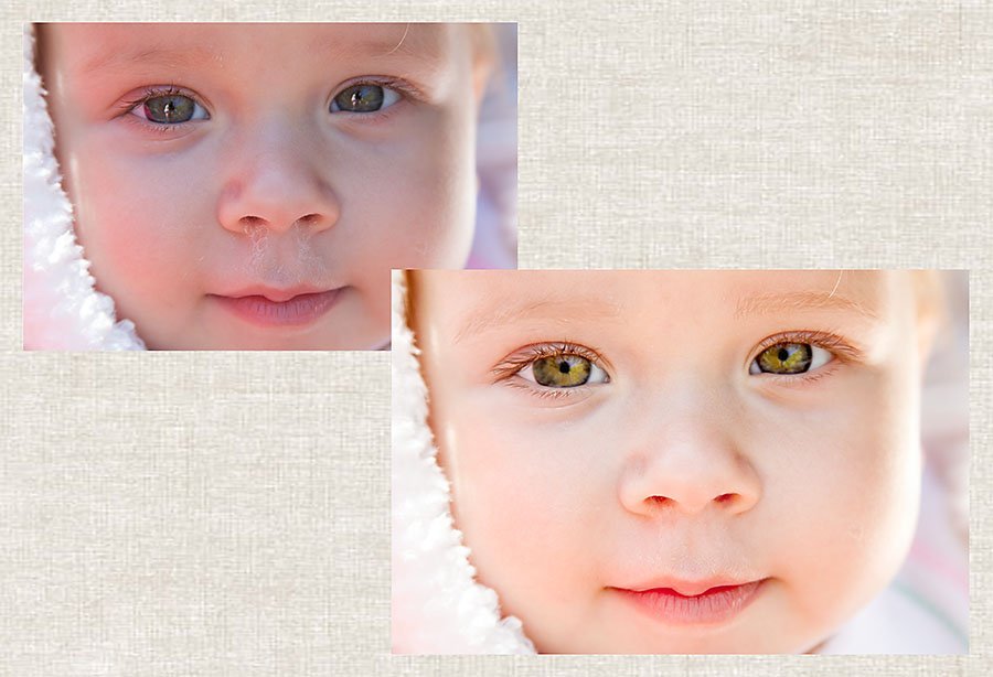
[[[568,324],[572,318],[577,320],[616,320],[621,314],[621,307],[606,300],[589,299],[543,299],[526,303],[503,305],[502,299],[477,309],[461,329],[456,332],[452,343],[484,334],[494,329],[516,324],[527,320],[543,320],[559,324]]]

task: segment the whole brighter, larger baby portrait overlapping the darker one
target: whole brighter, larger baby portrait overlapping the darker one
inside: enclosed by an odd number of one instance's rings
[[[395,272],[394,652],[967,653],[965,279]]]

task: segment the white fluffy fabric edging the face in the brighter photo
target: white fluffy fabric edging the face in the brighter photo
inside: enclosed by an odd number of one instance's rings
[[[474,580],[453,527],[448,481],[427,427],[427,388],[393,273],[393,651],[532,654],[521,622],[500,617],[496,593]]]

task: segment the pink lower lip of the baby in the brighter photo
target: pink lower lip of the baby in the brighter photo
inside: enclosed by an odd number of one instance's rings
[[[720,585],[693,597],[670,588],[624,590],[615,588],[640,611],[664,623],[675,625],[717,625],[737,616],[750,604],[764,580],[741,585]]]

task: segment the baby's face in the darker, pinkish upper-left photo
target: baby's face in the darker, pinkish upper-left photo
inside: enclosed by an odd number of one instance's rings
[[[53,24],[97,287],[153,348],[374,348],[389,269],[459,268],[482,65],[447,24]]]

